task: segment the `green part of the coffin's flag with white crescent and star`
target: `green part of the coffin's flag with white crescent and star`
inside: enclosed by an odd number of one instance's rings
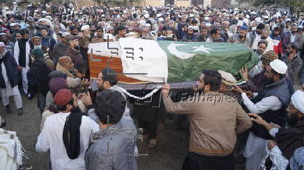
[[[197,80],[204,69],[223,70],[234,77],[243,65],[254,67],[257,54],[242,44],[223,42],[157,41],[167,54],[167,82]]]

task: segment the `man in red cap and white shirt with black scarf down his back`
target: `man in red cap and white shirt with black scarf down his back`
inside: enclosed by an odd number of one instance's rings
[[[89,148],[92,132],[98,124],[79,113],[78,99],[69,89],[63,88],[54,96],[59,110],[45,120],[37,143],[37,152],[50,150],[52,169],[85,169],[84,155]]]

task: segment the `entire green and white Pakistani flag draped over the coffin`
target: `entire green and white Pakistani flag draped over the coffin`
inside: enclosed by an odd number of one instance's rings
[[[134,73],[126,76],[149,82],[197,80],[204,69],[236,77],[243,65],[252,68],[259,61],[252,49],[241,44],[120,38],[119,45],[123,72]]]

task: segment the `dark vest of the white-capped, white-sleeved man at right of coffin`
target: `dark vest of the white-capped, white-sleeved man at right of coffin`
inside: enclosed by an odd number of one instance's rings
[[[265,111],[264,113],[259,114],[261,118],[264,119],[267,123],[275,123],[284,127],[287,122],[287,111],[286,108],[289,105],[291,93],[289,92],[289,86],[286,82],[286,78],[280,79],[278,82],[274,82],[273,84],[266,85],[257,95],[256,98],[252,100],[252,102],[257,103],[261,101],[263,98],[267,98],[271,95],[279,98],[282,103],[282,107],[278,110]],[[253,123],[251,127],[251,132],[253,132],[257,137],[261,137],[263,139],[273,139],[271,135],[268,133],[268,130],[257,123]]]

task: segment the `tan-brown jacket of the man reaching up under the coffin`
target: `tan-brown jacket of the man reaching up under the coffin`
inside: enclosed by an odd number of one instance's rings
[[[183,102],[172,102],[162,95],[169,113],[190,115],[190,152],[209,156],[230,155],[236,134],[252,126],[248,114],[235,98],[218,92],[196,95]]]

